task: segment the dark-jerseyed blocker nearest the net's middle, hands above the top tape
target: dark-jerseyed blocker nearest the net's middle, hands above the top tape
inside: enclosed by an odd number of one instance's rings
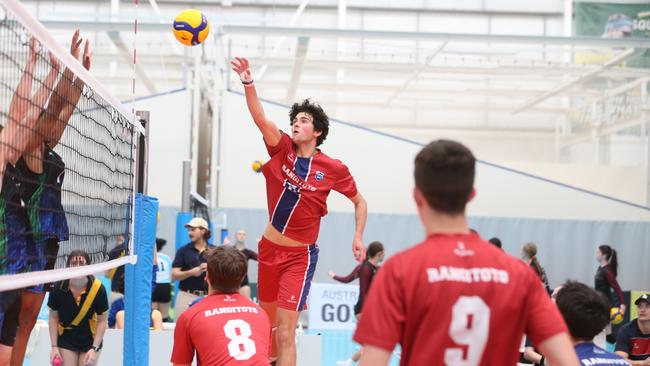
[[[72,36],[70,53],[79,59],[83,39],[79,30]],[[86,40],[83,66],[90,69],[90,43]],[[59,242],[68,240],[68,223],[61,204],[61,187],[65,163],[53,149],[59,143],[68,120],[81,97],[84,83],[66,68],[59,79],[47,108],[38,119],[25,152],[16,163],[22,181],[21,197],[29,218],[31,240],[28,240],[29,271],[54,268]],[[21,366],[32,328],[43,303],[43,284],[22,292],[19,328],[11,355],[11,365]]]

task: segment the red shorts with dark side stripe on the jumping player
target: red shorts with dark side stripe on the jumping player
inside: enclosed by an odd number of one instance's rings
[[[282,309],[302,311],[318,262],[318,245],[285,247],[265,237],[259,243],[257,292],[260,301]]]

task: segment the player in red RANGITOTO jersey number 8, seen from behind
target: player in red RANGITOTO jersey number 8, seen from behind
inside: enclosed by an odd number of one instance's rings
[[[259,306],[238,293],[248,270],[246,258],[231,246],[208,253],[209,294],[176,320],[174,366],[268,366],[269,318]]]

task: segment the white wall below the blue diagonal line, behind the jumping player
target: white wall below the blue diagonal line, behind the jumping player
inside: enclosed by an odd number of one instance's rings
[[[254,160],[268,159],[261,135],[241,95],[227,93],[224,106],[223,142],[218,150],[222,161],[221,207],[266,208],[264,178],[250,168]],[[265,103],[264,109],[280,128],[287,129],[286,107]],[[368,200],[370,212],[397,214],[415,212],[411,199],[412,165],[420,148],[408,141],[337,122],[332,123],[323,145],[325,153],[349,166]],[[488,164],[478,165],[476,188],[477,198],[469,206],[470,215],[475,216],[650,221],[647,209]],[[336,193],[328,205],[330,211],[352,210],[349,202]]]

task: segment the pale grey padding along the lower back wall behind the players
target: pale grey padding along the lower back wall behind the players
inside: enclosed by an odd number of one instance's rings
[[[257,248],[268,221],[266,210],[220,209],[228,215],[232,230],[247,231],[247,247]],[[575,279],[593,286],[598,267],[595,251],[609,244],[618,251],[618,280],[624,290],[650,290],[650,223],[596,220],[550,220],[470,216],[469,225],[481,237],[501,238],[504,249],[515,257],[527,242],[538,246],[539,260],[552,286]],[[328,270],[347,274],[355,266],[352,258],[354,215],[330,212],[323,218],[318,245],[320,254],[314,282],[333,283]],[[387,258],[424,239],[416,215],[369,214],[364,242],[379,240],[386,246]],[[249,275],[256,282],[256,263],[250,262]]]

